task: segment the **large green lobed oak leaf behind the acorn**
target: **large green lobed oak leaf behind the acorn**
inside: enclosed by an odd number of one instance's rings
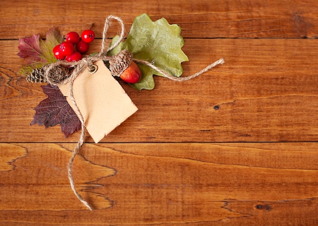
[[[108,55],[115,55],[122,49],[131,51],[135,59],[154,62],[154,65],[179,77],[182,74],[181,62],[188,61],[181,50],[184,41],[180,36],[181,27],[169,24],[165,18],[152,21],[147,14],[135,18],[126,41],[119,43]],[[112,45],[119,39],[115,36]],[[131,86],[137,90],[152,90],[154,88],[153,75],[164,76],[146,65],[139,65],[142,79]]]

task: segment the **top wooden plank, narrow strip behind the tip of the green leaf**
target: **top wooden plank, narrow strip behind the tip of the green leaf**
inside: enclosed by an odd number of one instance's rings
[[[18,7],[12,7],[12,5]],[[89,5],[89,6],[88,6]],[[153,20],[165,17],[182,27],[187,38],[316,38],[318,2],[315,0],[268,1],[149,1],[136,2],[55,0],[2,1],[0,39],[18,39],[33,34],[45,35],[52,26],[63,34],[93,29],[101,37],[109,14],[121,16],[127,30],[133,19],[148,13]],[[113,30],[112,37],[117,32]]]

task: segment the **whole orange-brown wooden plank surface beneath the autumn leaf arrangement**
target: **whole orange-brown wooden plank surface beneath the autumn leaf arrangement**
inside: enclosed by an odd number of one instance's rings
[[[139,110],[67,163],[79,138],[30,126],[45,99],[19,38],[142,13],[182,27],[186,82],[121,83]],[[117,34],[114,24],[110,37]],[[318,1],[1,1],[0,225],[318,225]]]

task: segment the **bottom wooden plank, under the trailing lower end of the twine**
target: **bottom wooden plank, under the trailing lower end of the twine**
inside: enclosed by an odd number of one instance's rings
[[[0,174],[0,224],[318,221],[317,143],[85,144],[75,160],[74,179],[97,209],[93,212],[68,185],[66,165],[73,148],[0,144],[7,156],[22,153]],[[0,162],[7,161],[3,153]]]

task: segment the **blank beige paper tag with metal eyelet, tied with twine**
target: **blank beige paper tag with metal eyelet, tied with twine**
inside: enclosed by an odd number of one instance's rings
[[[88,133],[98,143],[138,108],[113,78],[104,62],[100,60],[94,64],[98,66],[95,73],[90,74],[86,68],[75,79],[73,94]],[[61,85],[59,89],[74,109],[69,98],[69,84]]]

